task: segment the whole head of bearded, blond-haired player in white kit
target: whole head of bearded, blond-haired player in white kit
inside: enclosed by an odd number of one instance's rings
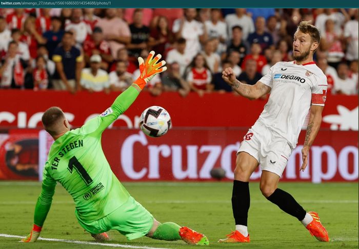
[[[293,58],[298,62],[312,58],[320,41],[319,30],[310,21],[301,21],[294,33]]]

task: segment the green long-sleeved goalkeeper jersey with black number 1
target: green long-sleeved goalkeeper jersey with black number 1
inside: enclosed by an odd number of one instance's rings
[[[77,218],[86,222],[105,217],[127,201],[130,195],[106,160],[101,135],[137,96],[138,90],[130,86],[103,114],[81,128],[66,132],[53,143],[44,169],[42,193],[35,207],[36,225],[42,227],[45,221],[56,182],[71,194]]]

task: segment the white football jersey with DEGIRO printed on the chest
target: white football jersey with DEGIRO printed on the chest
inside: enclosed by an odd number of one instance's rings
[[[324,106],[327,77],[314,62],[291,61],[277,62],[260,81],[272,89],[257,122],[282,135],[294,149],[310,105]]]

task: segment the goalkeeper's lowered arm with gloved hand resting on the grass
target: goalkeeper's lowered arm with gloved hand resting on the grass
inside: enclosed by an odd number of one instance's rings
[[[35,206],[33,228],[30,234],[21,240],[22,242],[35,242],[37,240],[44,225],[46,216],[49,213],[52,196],[55,193],[56,181],[45,175],[46,169],[44,171],[44,180],[41,194],[38,196]]]

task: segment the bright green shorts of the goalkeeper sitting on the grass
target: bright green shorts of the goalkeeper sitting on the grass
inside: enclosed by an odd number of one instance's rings
[[[91,234],[99,234],[109,230],[117,230],[128,240],[145,236],[153,225],[153,216],[132,196],[126,203],[96,221],[85,222],[78,219],[81,226]]]

